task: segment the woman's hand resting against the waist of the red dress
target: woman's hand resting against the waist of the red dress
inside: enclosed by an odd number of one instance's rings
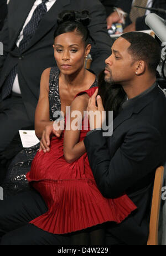
[[[61,126],[59,126],[57,121],[55,121],[55,122],[56,123],[53,122],[51,125],[47,125],[45,127],[45,129],[43,130],[42,139],[40,140],[39,152],[42,150],[44,151],[44,153],[49,152],[51,137],[53,137],[53,136],[60,137],[61,136],[63,130],[60,130]],[[59,121],[59,123],[60,123],[60,121]],[[59,129],[58,129],[58,127],[59,127]],[[55,130],[55,128],[56,128],[56,130]]]

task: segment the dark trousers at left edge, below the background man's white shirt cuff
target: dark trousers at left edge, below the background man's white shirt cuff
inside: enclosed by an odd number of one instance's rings
[[[32,125],[22,97],[16,93],[0,102],[0,124],[0,152],[6,149],[18,130]]]

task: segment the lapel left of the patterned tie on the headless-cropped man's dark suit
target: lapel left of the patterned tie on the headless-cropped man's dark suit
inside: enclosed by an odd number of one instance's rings
[[[20,4],[21,2],[21,4]],[[15,2],[14,4],[17,4],[17,12],[12,13],[12,22],[14,29],[11,31],[11,42],[9,44],[9,50],[11,50],[15,46],[15,42],[17,41],[17,38],[19,36],[20,31],[22,31],[22,28],[24,26],[24,23],[28,17],[28,14],[30,10],[33,7],[35,0],[28,0],[28,1],[19,1],[18,3]],[[19,14],[18,14],[19,13]],[[13,33],[14,31],[14,33]]]

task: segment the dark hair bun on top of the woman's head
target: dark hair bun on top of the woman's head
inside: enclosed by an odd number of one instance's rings
[[[64,22],[81,22],[84,26],[89,26],[90,16],[89,11],[64,11],[58,15],[57,23],[61,24]]]

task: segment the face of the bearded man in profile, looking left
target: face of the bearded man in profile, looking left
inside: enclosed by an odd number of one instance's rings
[[[105,81],[108,83],[123,83],[131,81],[135,75],[132,56],[128,53],[131,46],[124,38],[118,38],[112,46],[112,55],[107,58]]]

